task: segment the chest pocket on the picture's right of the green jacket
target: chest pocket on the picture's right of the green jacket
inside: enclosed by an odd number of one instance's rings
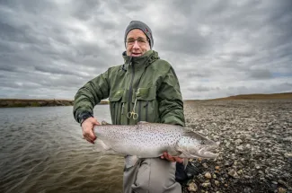
[[[139,115],[137,121],[157,122],[159,119],[156,101],[156,87],[138,88],[134,90],[132,102],[137,98],[136,110]]]

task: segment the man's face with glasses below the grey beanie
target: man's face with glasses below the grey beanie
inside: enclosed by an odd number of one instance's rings
[[[140,57],[150,50],[149,41],[145,33],[134,29],[128,32],[126,39],[127,56]]]

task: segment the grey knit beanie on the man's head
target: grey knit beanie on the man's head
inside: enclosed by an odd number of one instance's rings
[[[126,44],[126,38],[127,38],[128,32],[131,31],[131,30],[133,30],[133,29],[139,29],[139,30],[143,31],[146,34],[146,37],[148,39],[150,39],[150,41],[149,41],[150,48],[153,47],[154,40],[153,40],[153,37],[152,37],[152,31],[146,25],[146,23],[140,22],[140,21],[132,21],[132,22],[129,22],[128,27],[127,27],[127,29],[125,31],[125,38],[124,38],[125,44]]]

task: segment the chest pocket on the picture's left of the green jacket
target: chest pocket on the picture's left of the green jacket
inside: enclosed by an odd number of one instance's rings
[[[114,125],[120,124],[120,116],[123,114],[123,104],[127,101],[126,92],[123,89],[113,91],[109,96],[111,121]]]

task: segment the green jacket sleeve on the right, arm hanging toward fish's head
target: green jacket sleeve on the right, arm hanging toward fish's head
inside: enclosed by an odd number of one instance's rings
[[[162,123],[185,126],[180,83],[171,66],[157,91]]]

